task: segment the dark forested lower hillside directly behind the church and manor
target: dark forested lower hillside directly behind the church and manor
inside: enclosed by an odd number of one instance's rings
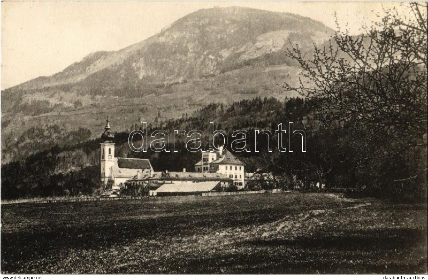
[[[297,178],[304,186],[321,182],[327,188],[364,188],[377,194],[400,195],[404,191],[402,188],[407,188],[408,185],[396,183],[395,180],[415,172],[418,162],[423,162],[426,149],[421,147],[392,158],[372,159],[369,165],[363,164],[357,156],[360,149],[358,137],[348,127],[351,124],[339,124],[341,129],[337,130],[324,129],[316,121],[319,116],[313,110],[318,102],[316,99],[305,101],[291,98],[279,101],[274,98],[256,98],[231,105],[211,103],[187,117],[183,115],[182,118],[162,124],[149,123],[147,131],[166,130],[172,135],[173,130],[178,129],[186,132],[202,130],[205,132],[207,146],[209,122],[214,121],[215,129],[224,130],[228,134],[230,150],[233,131],[247,130],[250,136],[248,144],[254,145],[254,130],[267,129],[273,133],[273,152],[267,152],[267,137],[259,136],[258,153],[253,146],[250,147],[250,152],[235,153],[245,162],[247,172],[271,172],[278,186],[284,188],[293,188],[293,180]],[[289,121],[293,122],[292,130],[301,129],[306,132],[306,152],[301,150],[299,135],[291,136],[293,152],[278,151],[278,135],[275,130],[278,129],[278,124],[287,124]],[[114,122],[111,124],[114,130]],[[115,133],[116,156],[148,158],[155,171],[181,171],[182,168],[194,170],[193,164],[200,160],[200,153],[189,152],[185,148],[188,138],[176,139],[177,152],[153,152],[150,149],[139,153],[131,151],[128,147],[129,133],[131,129],[140,127],[141,124],[136,122],[129,130]],[[288,133],[287,125],[284,128]],[[103,127],[100,127],[100,135],[102,132]],[[67,141],[67,133],[64,135],[62,143],[71,143]],[[287,139],[285,134],[283,143],[288,150]],[[172,141],[172,137],[169,140]],[[97,138],[79,144],[55,146],[25,160],[2,165],[2,198],[92,194],[100,187],[100,141]],[[169,144],[172,150],[172,143]],[[421,183],[412,182],[412,193],[423,191],[419,186],[423,186],[424,179],[421,177],[419,180]]]

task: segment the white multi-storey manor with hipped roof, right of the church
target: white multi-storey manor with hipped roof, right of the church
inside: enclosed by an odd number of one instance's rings
[[[196,172],[223,174],[232,179],[238,189],[245,187],[244,163],[223,147],[217,152],[202,152],[202,159],[194,166]]]

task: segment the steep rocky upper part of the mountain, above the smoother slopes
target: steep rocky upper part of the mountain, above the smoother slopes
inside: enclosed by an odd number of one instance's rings
[[[244,65],[290,63],[282,54],[289,41],[307,48],[313,42],[323,43],[332,33],[317,21],[289,13],[241,7],[202,9],[137,44],[92,53],[62,72],[14,89],[80,82],[76,87],[97,88],[97,94],[105,94],[135,83],[175,83]]]

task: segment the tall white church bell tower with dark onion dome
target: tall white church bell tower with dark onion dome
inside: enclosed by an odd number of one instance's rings
[[[110,121],[108,120],[104,127],[104,133],[101,134],[101,182],[107,184],[112,177],[112,167],[115,165],[114,157],[114,134],[110,131]]]

